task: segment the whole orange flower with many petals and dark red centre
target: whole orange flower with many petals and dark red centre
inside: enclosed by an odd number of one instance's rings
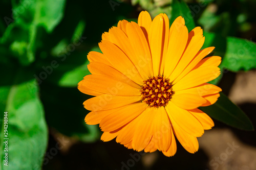
[[[197,109],[214,104],[221,88],[207,82],[220,75],[221,57],[200,50],[203,31],[188,33],[179,16],[169,28],[166,14],[153,21],[142,11],[138,23],[121,20],[102,34],[101,52],[90,52],[88,75],[78,89],[94,95],[83,103],[92,110],[85,118],[99,124],[101,140],[116,138],[129,149],[176,153],[176,138],[190,153],[198,151],[197,137],[214,126]]]

